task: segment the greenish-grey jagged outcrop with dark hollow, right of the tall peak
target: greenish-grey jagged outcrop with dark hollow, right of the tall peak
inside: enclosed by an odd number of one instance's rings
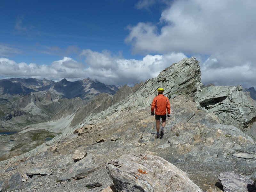
[[[242,86],[209,86],[195,98],[199,108],[217,115],[223,124],[248,131],[256,120],[256,109],[250,105]]]

